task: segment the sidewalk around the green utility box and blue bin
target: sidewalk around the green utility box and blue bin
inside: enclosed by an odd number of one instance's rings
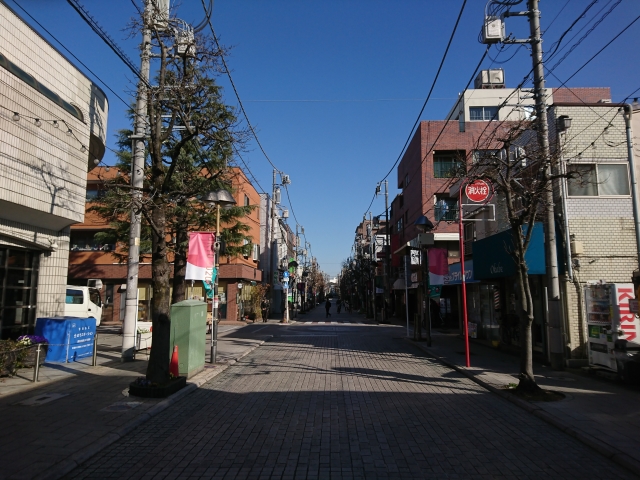
[[[147,357],[139,354],[136,361],[121,363],[122,337],[108,327],[99,328],[98,366],[92,367],[90,358],[47,363],[38,383],[31,382],[31,369],[0,379],[0,478],[60,477],[264,342],[237,338],[237,329],[225,328],[219,363],[207,364],[187,388],[165,400],[127,396],[129,383],[144,375]]]

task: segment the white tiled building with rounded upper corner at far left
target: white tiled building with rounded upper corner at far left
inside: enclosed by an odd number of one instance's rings
[[[0,338],[62,315],[70,226],[104,154],[104,93],[0,1]]]

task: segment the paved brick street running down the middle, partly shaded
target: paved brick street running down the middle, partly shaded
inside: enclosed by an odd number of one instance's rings
[[[401,327],[320,313],[269,326],[271,341],[68,478],[635,478],[423,357]]]

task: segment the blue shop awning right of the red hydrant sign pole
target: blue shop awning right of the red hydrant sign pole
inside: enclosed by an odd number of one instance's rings
[[[473,242],[475,278],[485,280],[516,275],[516,264],[511,256],[513,248],[511,230]],[[529,243],[524,259],[527,262],[529,275],[543,275],[546,273],[547,265],[542,223],[534,224],[531,243]]]

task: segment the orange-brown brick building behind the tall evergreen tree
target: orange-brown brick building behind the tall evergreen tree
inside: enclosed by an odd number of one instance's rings
[[[107,179],[118,175],[115,168],[95,168],[89,172],[87,180],[87,203],[99,196],[100,185]],[[260,195],[240,168],[232,168],[230,180],[236,205],[256,206],[253,211],[241,219],[249,227],[246,236],[255,242],[248,256],[222,256],[219,260],[219,311],[221,318],[228,321],[238,320],[244,313],[251,295],[252,282],[262,281],[260,268]],[[225,228],[225,224],[221,228]],[[107,305],[103,308],[103,322],[121,322],[124,318],[124,289],[126,287],[127,265],[114,254],[117,245],[98,244],[95,234],[108,229],[109,225],[96,213],[87,211],[85,221],[71,229],[71,253],[69,255],[69,283],[86,285],[90,280],[100,280],[103,285],[103,298]],[[255,239],[255,240],[254,240]],[[204,297],[200,282],[188,285],[189,297]],[[240,286],[242,285],[242,286]],[[150,321],[151,297],[151,257],[141,255],[138,284],[138,319]]]

